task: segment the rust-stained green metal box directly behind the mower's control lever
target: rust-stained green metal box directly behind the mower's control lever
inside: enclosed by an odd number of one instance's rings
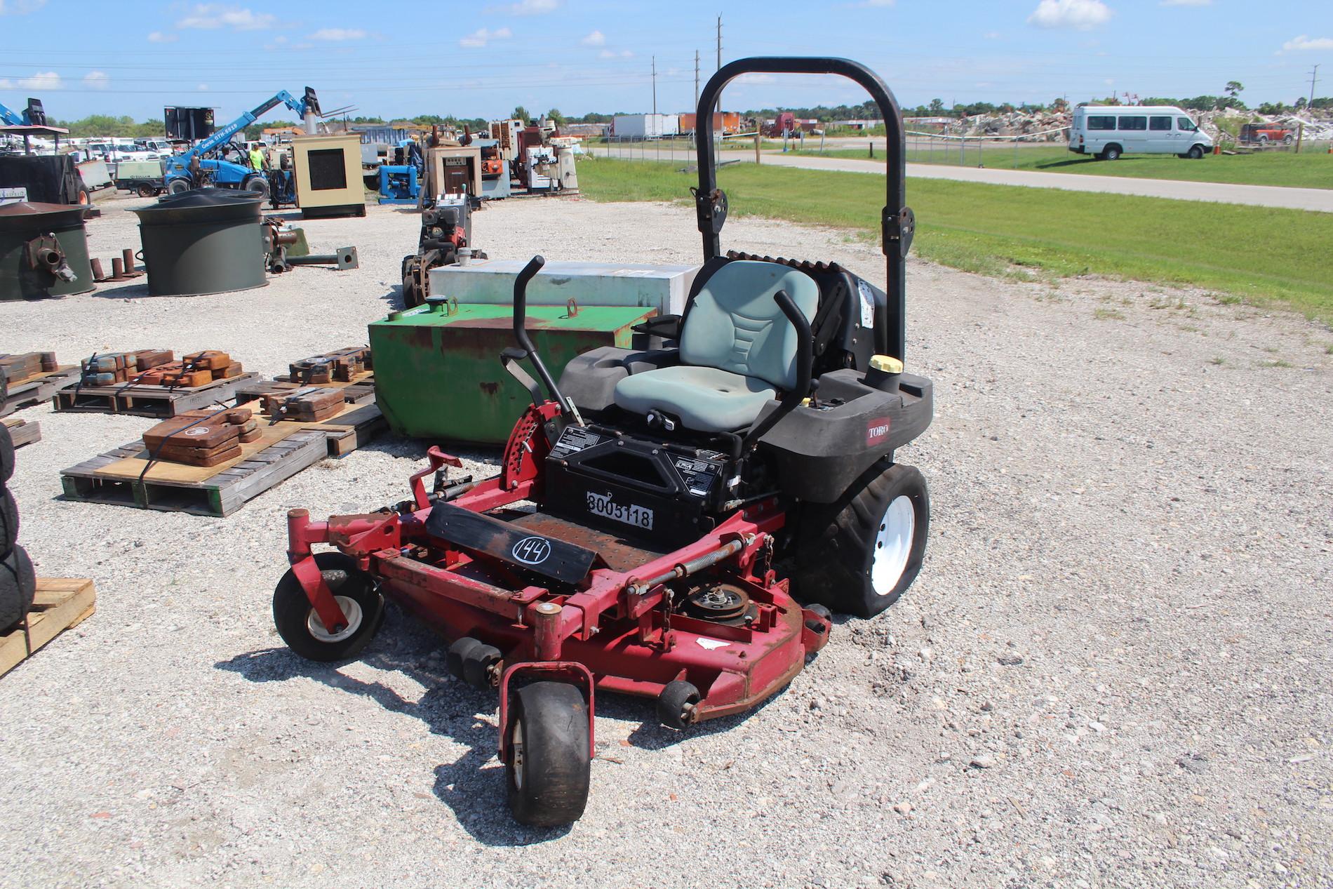
[[[528,332],[559,381],[579,355],[604,345],[629,348],[631,327],[656,309],[587,305],[529,305]],[[532,404],[528,391],[500,364],[513,339],[509,305],[433,301],[392,312],[369,325],[375,355],[375,399],[399,435],[431,441],[496,445]],[[531,363],[523,363],[536,377]]]

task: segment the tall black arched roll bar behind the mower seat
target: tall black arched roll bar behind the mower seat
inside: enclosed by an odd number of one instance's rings
[[[728,83],[745,73],[838,75],[861,84],[880,107],[885,128],[885,207],[880,216],[884,256],[888,260],[885,293],[888,311],[876,323],[876,352],[904,360],[906,340],[906,256],[916,220],[906,205],[906,141],[902,111],[880,76],[850,59],[805,56],[756,56],[726,63],[708,79],[698,93],[694,141],[698,151],[698,191],[694,208],[704,236],[704,260],[721,256],[721,231],[726,221],[726,196],[717,188],[713,156],[713,112]]]

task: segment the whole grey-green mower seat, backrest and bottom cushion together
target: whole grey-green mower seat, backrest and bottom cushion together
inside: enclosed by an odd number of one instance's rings
[[[736,432],[754,424],[778,389],[796,385],[796,331],[773,301],[786,291],[806,319],[820,289],[798,269],[734,260],[694,295],[680,336],[680,364],[616,384],[616,407],[660,412],[696,432]]]

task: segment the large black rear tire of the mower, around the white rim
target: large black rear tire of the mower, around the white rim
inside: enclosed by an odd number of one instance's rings
[[[906,497],[912,505],[912,541],[897,581],[877,590],[870,572],[876,537],[897,497]],[[837,613],[873,617],[896,602],[921,570],[930,529],[930,493],[916,466],[881,460],[834,502],[806,505],[800,522],[793,594]]]

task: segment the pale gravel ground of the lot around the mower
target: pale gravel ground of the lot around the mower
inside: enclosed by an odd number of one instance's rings
[[[137,245],[137,204],[89,224],[95,255]],[[276,373],[364,343],[415,225],[305,223],[361,268],[244,293],[0,304],[0,351],[211,347]],[[698,255],[692,212],[651,204],[504,201],[476,240]],[[737,220],[726,241],[882,283],[840,232]],[[24,411],[44,437],[19,452],[21,541],[99,601],[0,680],[0,885],[1333,885],[1333,335],[922,263],[909,295],[937,400],[900,454],[934,500],[916,585],[742,717],[674,734],[601,698],[588,812],[560,830],[509,820],[493,697],[401,612],[337,668],[272,628],[284,512],[401,498],[424,444],[383,437],[212,520],[59,500],[61,468],[151,421]]]

